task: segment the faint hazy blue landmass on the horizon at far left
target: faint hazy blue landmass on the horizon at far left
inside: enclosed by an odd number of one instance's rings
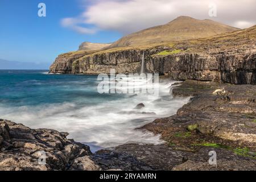
[[[30,63],[0,59],[0,69],[49,69],[50,63]]]

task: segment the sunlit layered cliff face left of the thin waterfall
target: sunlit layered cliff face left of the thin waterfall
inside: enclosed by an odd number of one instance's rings
[[[148,56],[162,50],[160,48],[146,50]],[[51,65],[51,73],[110,73],[115,69],[117,73],[139,73],[141,69],[143,50],[127,49],[122,51],[94,53],[84,55],[60,55]]]

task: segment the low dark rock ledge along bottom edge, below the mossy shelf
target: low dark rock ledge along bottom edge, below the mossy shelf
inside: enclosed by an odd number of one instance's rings
[[[216,151],[217,165],[209,164],[209,152]],[[183,170],[255,170],[256,160],[234,154],[224,148],[202,147],[189,150],[185,147],[167,145],[125,144],[112,150],[98,151],[94,162],[102,169],[142,171]]]

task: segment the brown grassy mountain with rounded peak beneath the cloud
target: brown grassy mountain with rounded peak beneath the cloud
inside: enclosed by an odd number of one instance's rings
[[[239,30],[213,20],[198,20],[189,16],[179,16],[162,26],[147,28],[124,36],[107,48],[143,46],[177,40],[204,38],[207,36],[222,34]]]

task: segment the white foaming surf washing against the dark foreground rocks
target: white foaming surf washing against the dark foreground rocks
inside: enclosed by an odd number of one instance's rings
[[[102,100],[96,105],[86,100],[36,106],[1,104],[0,115],[32,128],[67,131],[69,138],[97,149],[130,142],[159,144],[163,143],[160,135],[135,129],[156,118],[176,114],[177,109],[189,101],[189,98],[172,98],[172,84],[174,81],[160,83],[159,96],[137,94],[131,97],[127,94],[118,100]],[[135,109],[139,103],[145,105],[141,110]]]

